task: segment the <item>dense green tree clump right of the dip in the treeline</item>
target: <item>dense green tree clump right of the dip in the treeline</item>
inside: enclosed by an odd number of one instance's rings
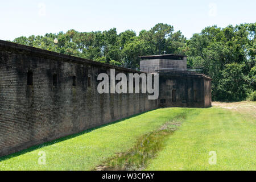
[[[255,90],[256,23],[207,27],[187,42],[188,63],[213,78],[213,100],[245,100]]]

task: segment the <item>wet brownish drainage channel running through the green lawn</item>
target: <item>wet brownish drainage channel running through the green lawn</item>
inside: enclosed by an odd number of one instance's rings
[[[181,125],[187,112],[177,115],[161,126],[158,130],[143,135],[137,140],[133,148],[127,152],[115,154],[113,158],[106,159],[103,164],[96,167],[96,171],[143,170],[148,160],[154,158],[158,151],[164,147],[164,141]]]

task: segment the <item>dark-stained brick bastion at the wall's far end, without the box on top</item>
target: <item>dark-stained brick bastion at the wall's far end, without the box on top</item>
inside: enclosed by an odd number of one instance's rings
[[[159,106],[209,107],[211,102],[209,77],[189,72],[159,73]]]

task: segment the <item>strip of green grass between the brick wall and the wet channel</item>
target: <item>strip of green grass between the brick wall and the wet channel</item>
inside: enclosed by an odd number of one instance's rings
[[[67,137],[0,158],[0,170],[90,170],[104,158],[133,147],[137,138],[188,109],[158,109],[112,125]],[[38,152],[46,152],[47,165],[38,164]]]

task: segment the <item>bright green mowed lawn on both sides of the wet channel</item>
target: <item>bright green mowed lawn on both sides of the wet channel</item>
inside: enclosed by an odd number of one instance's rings
[[[253,106],[255,106],[255,102]],[[255,111],[254,109],[250,110]],[[79,135],[0,158],[0,170],[91,170],[119,152],[130,150],[137,139],[156,131],[177,115],[182,125],[165,139],[164,147],[147,164],[148,170],[255,170],[255,117],[213,106],[208,109],[164,108],[139,114]],[[46,165],[38,153],[46,152]],[[210,151],[216,164],[209,164]]]

